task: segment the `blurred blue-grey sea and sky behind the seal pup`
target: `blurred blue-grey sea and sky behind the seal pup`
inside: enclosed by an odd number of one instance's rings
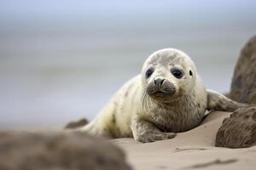
[[[228,92],[253,1],[1,1],[0,128],[90,120],[148,55],[180,48]]]

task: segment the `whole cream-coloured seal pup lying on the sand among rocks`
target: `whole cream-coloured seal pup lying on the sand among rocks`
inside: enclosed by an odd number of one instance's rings
[[[141,74],[126,82],[102,112],[79,130],[154,142],[198,126],[206,110],[235,111],[243,106],[206,90],[192,59],[165,48],[151,54]]]

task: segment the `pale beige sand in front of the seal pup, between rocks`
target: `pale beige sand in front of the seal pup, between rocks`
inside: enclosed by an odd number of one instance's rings
[[[214,147],[218,127],[228,112],[212,112],[199,127],[177,133],[174,139],[142,144],[134,139],[113,139],[131,167],[153,169],[255,169],[256,146],[245,149]]]

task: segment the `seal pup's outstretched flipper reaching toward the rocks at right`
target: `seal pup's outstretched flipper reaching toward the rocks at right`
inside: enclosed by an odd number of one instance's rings
[[[238,108],[247,106],[249,105],[238,103],[225,97],[223,94],[207,90],[207,110],[209,111],[236,111]]]

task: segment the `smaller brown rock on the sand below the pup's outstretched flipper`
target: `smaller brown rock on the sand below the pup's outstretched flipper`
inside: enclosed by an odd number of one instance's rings
[[[256,107],[241,108],[225,118],[216,136],[217,147],[244,148],[256,144]]]

